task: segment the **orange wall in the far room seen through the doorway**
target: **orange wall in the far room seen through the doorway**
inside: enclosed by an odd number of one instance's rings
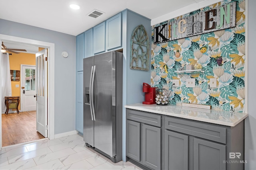
[[[19,53],[9,55],[10,58],[10,70],[20,70],[20,64],[28,64],[36,66],[36,55],[29,53]],[[20,81],[11,81],[12,84],[12,96],[20,96]],[[18,84],[19,87],[15,87]],[[19,106],[20,109],[20,106]]]

